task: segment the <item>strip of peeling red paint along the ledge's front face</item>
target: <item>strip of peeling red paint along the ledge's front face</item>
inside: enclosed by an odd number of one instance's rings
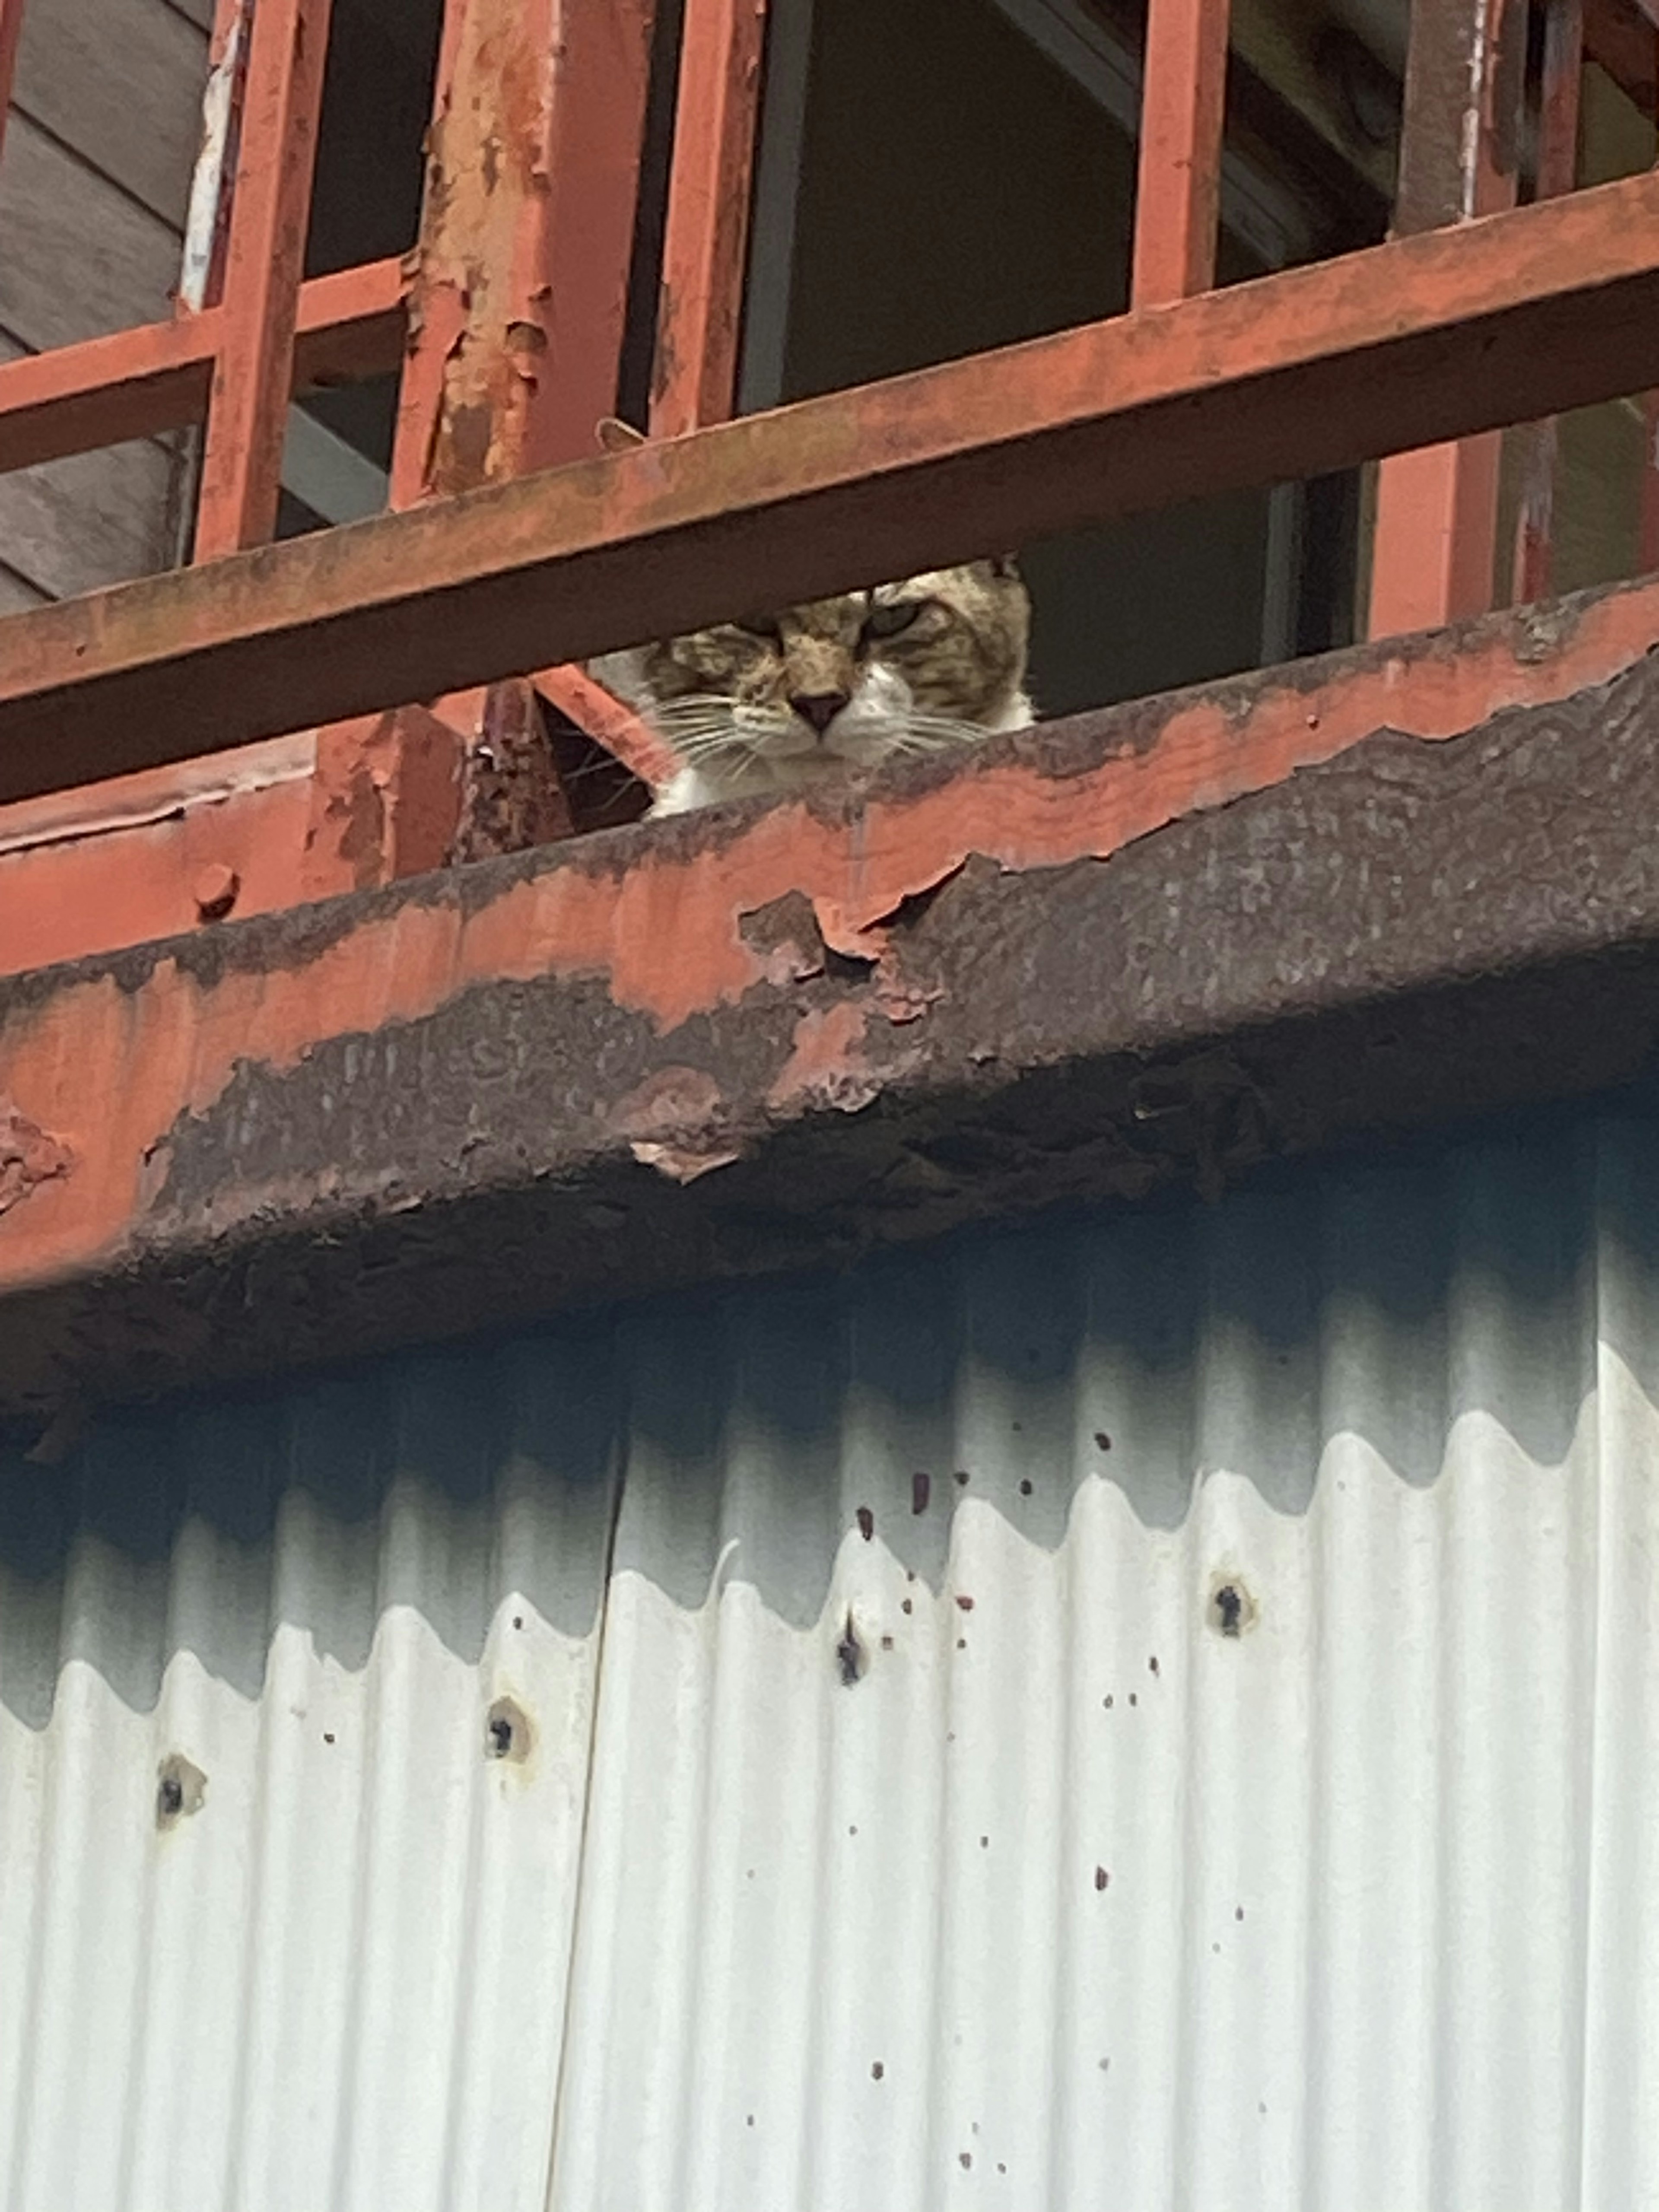
[[[1639,661],[1657,628],[1659,584],[1608,591],[1148,701],[1097,721],[1086,741],[1064,728],[998,741],[938,781],[889,779],[863,807],[787,803],[577,843],[562,865],[509,876],[493,894],[480,874],[467,896],[458,885],[369,911],[288,967],[226,967],[208,984],[161,956],[131,989],[104,975],[24,995],[0,1029],[0,1082],[40,1128],[95,1113],[100,1146],[75,1177],[13,1210],[0,1272],[51,1276],[128,1234],[155,1146],[181,1110],[210,1108],[239,1062],[292,1068],[323,1040],[418,1020],[471,984],[540,975],[597,978],[617,1006],[672,1033],[757,984],[810,975],[821,956],[801,942],[807,914],[830,922],[834,945],[874,962],[872,991],[856,1009],[803,1009],[770,1104],[790,1110],[807,1097],[856,1110],[909,1051],[894,1024],[920,1048],[933,1015],[933,1000],[902,973],[896,916],[969,856],[1006,872],[1110,856],[1371,730],[1442,739],[1500,708],[1597,686]],[[757,940],[754,918],[787,900],[801,920]],[[697,1128],[688,1144],[684,1128],[655,1121],[633,1141],[701,1164],[726,1148],[719,1130]]]

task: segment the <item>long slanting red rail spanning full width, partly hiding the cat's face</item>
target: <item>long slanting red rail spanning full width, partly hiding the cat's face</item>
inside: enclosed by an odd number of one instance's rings
[[[1659,383],[1659,175],[0,624],[0,801]]]

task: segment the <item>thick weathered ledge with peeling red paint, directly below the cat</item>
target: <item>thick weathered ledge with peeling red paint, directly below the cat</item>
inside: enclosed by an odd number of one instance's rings
[[[13,978],[0,1416],[1626,1082],[1650,595]]]

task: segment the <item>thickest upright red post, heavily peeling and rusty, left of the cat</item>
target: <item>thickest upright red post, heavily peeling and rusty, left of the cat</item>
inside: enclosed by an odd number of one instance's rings
[[[597,451],[615,409],[655,0],[447,0],[392,504]],[[542,697],[595,741],[644,732],[580,670],[436,703],[456,732],[456,852],[571,834]],[[615,748],[613,748],[615,750]]]

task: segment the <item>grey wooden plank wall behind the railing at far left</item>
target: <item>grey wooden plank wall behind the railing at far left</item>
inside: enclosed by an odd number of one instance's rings
[[[0,155],[0,361],[161,321],[179,274],[212,0],[27,0]],[[0,613],[164,568],[181,449],[0,476]]]

